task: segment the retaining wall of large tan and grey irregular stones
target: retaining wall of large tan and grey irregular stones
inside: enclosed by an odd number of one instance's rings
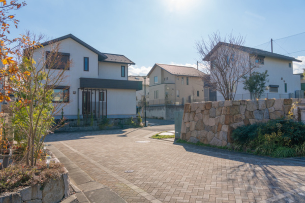
[[[305,99],[259,99],[185,104],[181,140],[229,146],[232,130],[288,115],[292,103]]]

